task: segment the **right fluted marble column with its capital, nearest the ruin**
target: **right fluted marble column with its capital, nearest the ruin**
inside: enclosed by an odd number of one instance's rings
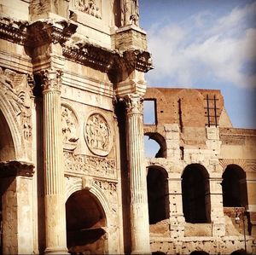
[[[131,253],[149,254],[147,173],[143,145],[142,97],[128,95],[126,101],[127,152],[131,188]]]

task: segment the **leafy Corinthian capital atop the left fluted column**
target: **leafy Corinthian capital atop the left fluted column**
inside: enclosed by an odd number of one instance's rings
[[[43,70],[40,72],[43,81],[43,90],[56,90],[61,91],[61,70]]]

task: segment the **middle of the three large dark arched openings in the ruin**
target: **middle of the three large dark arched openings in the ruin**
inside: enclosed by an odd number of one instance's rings
[[[182,175],[183,214],[187,223],[210,223],[209,175],[204,166],[188,165]]]

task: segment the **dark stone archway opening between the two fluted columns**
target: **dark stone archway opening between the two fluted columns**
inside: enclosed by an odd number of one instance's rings
[[[66,202],[67,248],[71,254],[108,252],[106,216],[89,190],[73,193]]]

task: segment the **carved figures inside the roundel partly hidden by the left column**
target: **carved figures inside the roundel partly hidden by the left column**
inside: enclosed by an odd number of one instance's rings
[[[63,142],[77,142],[79,140],[73,112],[64,106],[61,106],[61,125]]]

